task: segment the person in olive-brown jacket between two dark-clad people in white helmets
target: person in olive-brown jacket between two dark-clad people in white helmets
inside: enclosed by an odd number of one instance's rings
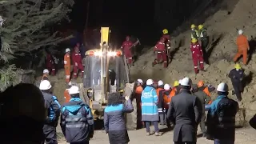
[[[193,94],[198,97],[202,104],[202,118],[200,122],[200,128],[202,131],[202,137],[206,137],[206,112],[205,112],[205,106],[210,102],[210,97],[204,93],[202,90],[198,90],[198,85],[194,84],[192,86]]]

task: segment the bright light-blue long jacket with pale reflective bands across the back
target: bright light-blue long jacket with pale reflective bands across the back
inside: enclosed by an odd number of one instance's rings
[[[158,121],[158,95],[154,87],[146,86],[141,99],[142,121]]]

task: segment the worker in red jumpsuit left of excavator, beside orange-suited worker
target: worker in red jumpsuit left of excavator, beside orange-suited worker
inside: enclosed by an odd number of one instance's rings
[[[82,56],[80,54],[78,45],[74,47],[74,52],[73,52],[71,58],[72,58],[72,61],[73,61],[73,64],[74,64],[74,66],[73,66],[74,67],[73,68],[73,77],[78,78],[78,70],[81,70],[82,77],[83,77],[84,68],[82,66]]]

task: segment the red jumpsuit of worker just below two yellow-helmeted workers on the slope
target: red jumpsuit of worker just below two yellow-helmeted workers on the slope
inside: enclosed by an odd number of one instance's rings
[[[192,52],[192,58],[194,62],[194,72],[198,74],[198,62],[201,70],[204,70],[203,67],[203,55],[202,55],[202,48],[198,42],[191,43],[190,50]]]

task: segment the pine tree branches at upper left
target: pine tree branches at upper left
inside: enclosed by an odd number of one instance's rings
[[[63,41],[51,27],[66,19],[73,0],[0,0],[0,90],[21,82],[23,70],[10,63],[17,56]]]

